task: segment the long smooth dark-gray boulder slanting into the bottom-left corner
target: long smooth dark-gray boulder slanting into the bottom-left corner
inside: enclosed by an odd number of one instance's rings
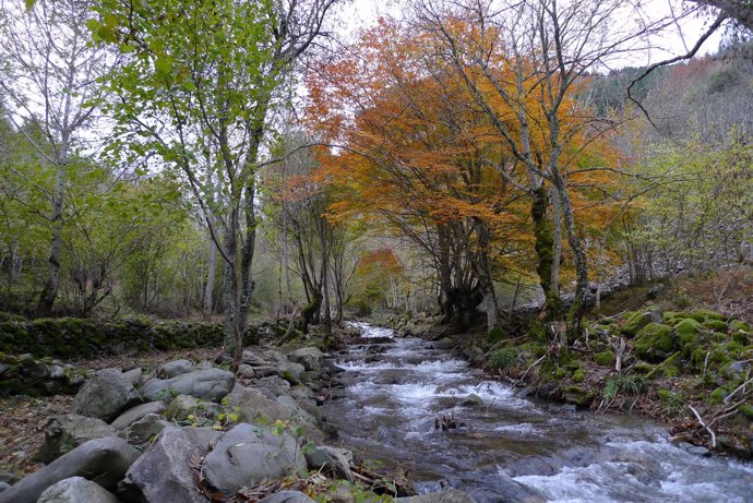
[[[138,457],[139,451],[118,436],[89,440],[0,492],[0,503],[35,503],[53,483],[76,476],[113,489]]]

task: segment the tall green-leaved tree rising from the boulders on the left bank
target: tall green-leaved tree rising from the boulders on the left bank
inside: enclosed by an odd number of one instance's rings
[[[106,0],[89,21],[95,38],[128,56],[109,77],[119,95],[111,107],[122,124],[118,145],[138,156],[155,152],[182,171],[225,261],[225,349],[236,364],[254,288],[256,167],[267,119],[335,1]],[[223,195],[216,207],[217,182],[199,161],[207,155]]]

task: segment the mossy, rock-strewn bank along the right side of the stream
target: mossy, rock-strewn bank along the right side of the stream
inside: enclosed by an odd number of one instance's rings
[[[430,319],[383,321],[454,348],[519,396],[644,415],[689,452],[753,458],[751,324],[709,309],[679,310],[660,296],[637,306],[635,299],[621,292],[566,345],[557,325],[534,316],[491,334],[456,333]],[[634,309],[617,311],[625,300]],[[610,309],[617,312],[607,315]]]

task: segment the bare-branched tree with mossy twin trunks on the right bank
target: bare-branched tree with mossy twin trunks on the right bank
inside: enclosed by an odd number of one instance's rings
[[[567,170],[582,155],[582,146],[588,145],[588,136],[601,133],[577,100],[579,84],[610,58],[632,49],[644,32],[617,31],[614,20],[628,7],[619,0],[565,4],[557,0],[419,0],[414,5],[418,25],[433,34],[434,44],[427,46],[435,57],[453,62],[501,141],[528,171],[538,273],[548,309],[553,311],[550,316],[559,306],[552,282],[559,243],[547,221],[547,207],[551,203],[561,209],[576,270],[569,330],[577,334],[585,310],[588,262],[575,223]],[[505,105],[507,115],[500,113],[505,108],[495,107],[495,101]],[[551,201],[545,183],[551,187]],[[555,220],[553,228],[559,226]]]

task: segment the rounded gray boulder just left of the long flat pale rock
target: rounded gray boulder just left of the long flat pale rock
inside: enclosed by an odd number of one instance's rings
[[[141,395],[117,369],[105,369],[86,381],[73,400],[73,412],[111,421],[141,402]]]

